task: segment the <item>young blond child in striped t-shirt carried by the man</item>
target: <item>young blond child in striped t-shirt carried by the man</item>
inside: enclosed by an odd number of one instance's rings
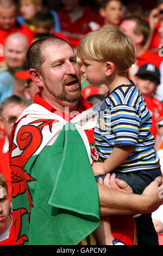
[[[77,48],[81,71],[91,86],[106,84],[109,93],[99,110],[94,137],[102,162],[92,164],[98,180],[106,173],[127,181],[134,193],[160,175],[154,137],[149,131],[152,117],[127,71],[135,63],[131,39],[116,26],[104,26],[87,34]],[[158,245],[151,215],[135,218],[139,245]],[[111,234],[109,218],[102,218],[96,230],[101,245],[124,245]]]

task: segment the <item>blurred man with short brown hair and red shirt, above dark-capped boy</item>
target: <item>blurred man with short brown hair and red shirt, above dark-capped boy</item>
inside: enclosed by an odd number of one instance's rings
[[[150,34],[149,23],[140,17],[129,17],[122,21],[120,29],[134,42],[138,68],[144,64],[152,63],[160,69],[162,58],[158,52],[147,49]]]

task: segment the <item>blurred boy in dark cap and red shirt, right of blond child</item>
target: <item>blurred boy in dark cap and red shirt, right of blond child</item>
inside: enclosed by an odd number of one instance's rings
[[[140,67],[136,73],[136,86],[146,101],[147,108],[152,115],[151,133],[157,135],[158,119],[163,118],[163,103],[155,97],[156,87],[160,83],[160,71],[151,64]]]

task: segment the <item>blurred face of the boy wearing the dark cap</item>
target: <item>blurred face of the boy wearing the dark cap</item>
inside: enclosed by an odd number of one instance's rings
[[[136,85],[143,96],[153,97],[156,90],[156,79],[151,75],[136,78]]]

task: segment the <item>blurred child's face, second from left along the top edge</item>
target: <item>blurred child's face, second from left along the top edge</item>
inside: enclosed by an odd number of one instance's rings
[[[39,7],[36,7],[30,0],[20,1],[20,12],[25,20],[32,19],[39,11]]]

